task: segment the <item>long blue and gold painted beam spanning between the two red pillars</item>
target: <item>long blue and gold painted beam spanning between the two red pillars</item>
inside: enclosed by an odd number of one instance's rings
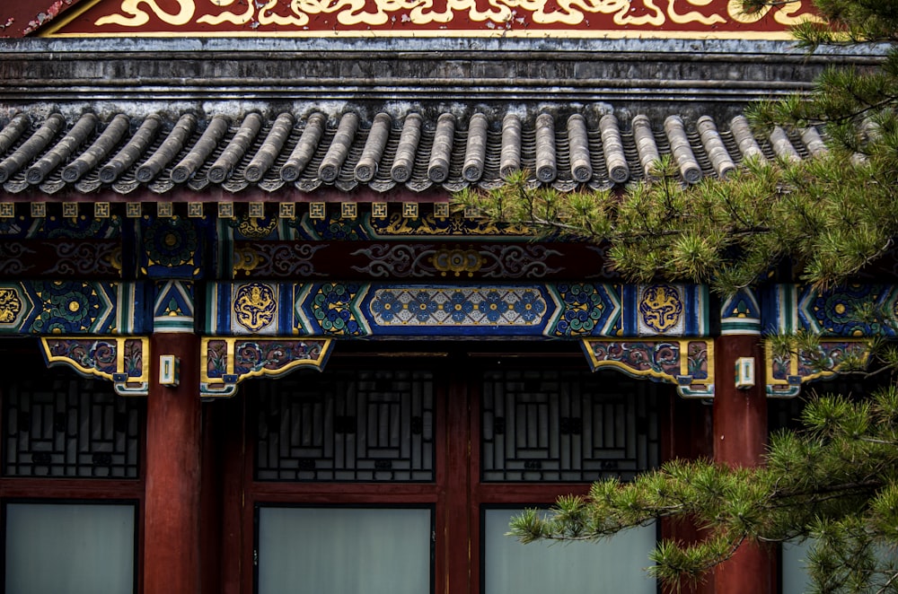
[[[644,289],[644,290],[643,290]],[[211,336],[708,336],[699,285],[207,284]]]

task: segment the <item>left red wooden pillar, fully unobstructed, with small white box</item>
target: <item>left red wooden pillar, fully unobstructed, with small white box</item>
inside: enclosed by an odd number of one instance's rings
[[[181,295],[188,293],[179,285]],[[157,304],[167,296],[164,290],[160,295]],[[167,324],[155,326],[166,331],[150,339],[143,594],[201,591],[199,338],[189,310],[189,316],[180,316],[180,328],[173,323],[179,316],[168,313]],[[161,355],[180,359],[178,386],[159,383]]]

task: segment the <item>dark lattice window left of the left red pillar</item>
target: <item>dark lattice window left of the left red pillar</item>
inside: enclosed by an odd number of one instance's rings
[[[3,401],[4,476],[139,476],[142,400],[66,378],[13,383]]]

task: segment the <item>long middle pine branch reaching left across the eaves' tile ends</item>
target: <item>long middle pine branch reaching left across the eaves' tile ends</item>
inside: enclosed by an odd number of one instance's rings
[[[748,162],[726,180],[681,183],[670,157],[652,181],[621,196],[561,195],[529,188],[524,176],[489,193],[466,191],[465,206],[543,234],[608,242],[629,280],[709,283],[718,293],[762,282],[783,261],[821,287],[844,282],[892,249],[898,233],[898,159],[855,165],[839,151],[800,163]]]

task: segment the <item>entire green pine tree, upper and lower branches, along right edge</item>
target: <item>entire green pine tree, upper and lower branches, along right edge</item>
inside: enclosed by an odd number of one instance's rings
[[[747,0],[746,9],[768,1]],[[457,202],[495,220],[605,243],[632,281],[709,283],[725,294],[764,282],[784,264],[797,279],[826,288],[878,258],[894,258],[898,0],[816,5],[822,20],[797,27],[800,45],[882,44],[882,62],[827,71],[809,95],[763,102],[750,116],[756,127],[822,127],[823,156],[749,161],[727,179],[696,186],[682,184],[667,159],[622,194],[562,196],[527,188],[521,174],[505,188],[464,192]],[[813,351],[816,339],[774,342]],[[876,340],[870,347],[881,369],[898,369],[898,349]],[[674,460],[632,483],[608,480],[585,497],[561,497],[548,514],[526,511],[511,535],[523,542],[594,540],[659,518],[688,519],[707,528],[707,537],[656,547],[650,571],[665,583],[700,580],[745,541],[772,546],[810,537],[815,592],[898,592],[898,387],[812,399],[802,423],[771,436],[762,467]]]

